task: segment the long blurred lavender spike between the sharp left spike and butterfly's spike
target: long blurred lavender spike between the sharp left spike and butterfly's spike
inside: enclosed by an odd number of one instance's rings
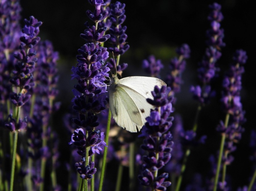
[[[60,103],[53,103],[58,94],[56,90],[58,53],[54,52],[50,41],[40,41],[35,50],[38,56],[34,71],[35,86],[29,90],[33,93],[35,99],[26,106],[27,112],[33,109],[33,115],[29,118],[27,127],[27,144],[29,147],[28,156],[30,160],[33,160],[32,168],[35,169],[29,169],[31,171],[30,176],[34,177],[32,178],[34,187],[38,187],[44,181],[43,169],[41,168],[45,168],[45,166],[38,167],[35,164],[43,164],[41,161],[46,161],[52,157],[53,169],[56,168],[56,160],[59,154],[56,148],[58,139],[56,133],[52,132],[51,127],[49,127],[49,121],[52,112],[59,109]],[[52,138],[54,136],[55,138]],[[52,147],[50,148],[49,145]],[[42,181],[37,182],[37,179]]]

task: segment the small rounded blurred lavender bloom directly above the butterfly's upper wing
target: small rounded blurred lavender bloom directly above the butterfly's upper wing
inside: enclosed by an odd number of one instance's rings
[[[158,77],[160,70],[163,68],[161,60],[156,60],[154,55],[150,55],[148,59],[142,61],[142,68],[145,72],[150,74],[151,77]]]

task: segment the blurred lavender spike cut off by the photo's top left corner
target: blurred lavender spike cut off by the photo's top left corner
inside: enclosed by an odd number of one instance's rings
[[[10,75],[17,62],[14,54],[19,49],[19,38],[22,35],[19,25],[20,11],[19,0],[0,2],[0,103],[8,100],[12,92]]]

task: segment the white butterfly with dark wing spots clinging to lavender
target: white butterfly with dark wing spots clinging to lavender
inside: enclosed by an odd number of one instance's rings
[[[150,109],[154,108],[147,102],[147,98],[153,99],[151,91],[155,85],[161,88],[166,84],[163,80],[153,77],[131,76],[118,79],[114,75],[110,80],[109,108],[116,123],[130,132],[137,132],[150,115]]]

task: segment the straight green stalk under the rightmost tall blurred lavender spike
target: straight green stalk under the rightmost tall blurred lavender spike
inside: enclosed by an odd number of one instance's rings
[[[225,128],[227,128],[228,123],[229,123],[229,114],[226,115],[225,124],[224,124]],[[219,174],[220,174],[220,169],[221,169],[221,159],[222,159],[223,150],[224,150],[225,138],[226,138],[226,134],[223,133],[221,135],[221,145],[220,145],[220,152],[219,152],[219,157],[218,157],[216,175],[215,175],[215,179],[214,179],[213,191],[217,190],[217,184],[218,184]],[[223,179],[223,177],[222,177],[222,179]],[[225,177],[224,177],[224,180],[225,180]]]

